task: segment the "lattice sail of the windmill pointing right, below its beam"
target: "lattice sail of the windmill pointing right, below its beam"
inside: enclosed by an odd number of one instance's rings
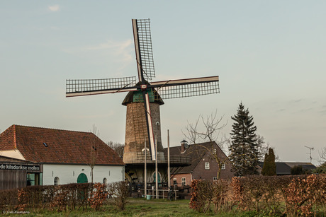
[[[218,81],[210,81],[205,83],[187,83],[178,86],[162,86],[161,88],[156,88],[156,90],[161,98],[166,100],[220,93],[220,86]]]

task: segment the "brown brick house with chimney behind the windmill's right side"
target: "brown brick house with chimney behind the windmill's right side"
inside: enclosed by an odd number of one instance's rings
[[[183,168],[172,168],[171,183],[182,186],[191,184],[192,180],[217,180],[219,166],[212,153],[217,153],[218,157],[223,160],[220,178],[231,179],[234,174],[231,172],[230,160],[227,159],[215,141],[196,145],[188,145],[183,141],[181,146],[170,147],[170,155],[189,156],[191,157],[191,165]],[[164,154],[167,154],[167,148],[164,148]]]

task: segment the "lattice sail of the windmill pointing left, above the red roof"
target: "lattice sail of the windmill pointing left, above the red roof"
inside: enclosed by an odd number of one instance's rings
[[[136,77],[67,80],[66,95],[92,95],[130,91],[136,85]],[[137,90],[137,89],[135,89]],[[80,93],[80,94],[75,94]]]

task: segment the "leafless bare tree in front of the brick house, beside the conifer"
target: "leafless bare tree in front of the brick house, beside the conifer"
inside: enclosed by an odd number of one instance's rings
[[[195,124],[188,123],[186,127],[187,134],[186,139],[188,139],[193,146],[200,148],[193,148],[193,151],[209,153],[210,158],[214,159],[218,164],[217,178],[220,178],[220,171],[223,164],[229,163],[228,156],[223,154],[223,148],[225,144],[229,143],[229,139],[226,136],[223,136],[220,139],[220,130],[226,126],[222,124],[223,117],[217,117],[217,111],[210,114],[208,117],[204,118],[203,115],[200,115],[196,120]],[[198,129],[198,124],[203,124],[203,131]],[[206,145],[201,143],[206,142]],[[208,145],[207,145],[208,143]],[[218,147],[216,147],[218,146]],[[220,150],[217,150],[219,148]],[[222,151],[222,154],[220,153]],[[198,153],[198,157],[202,156],[202,153]]]

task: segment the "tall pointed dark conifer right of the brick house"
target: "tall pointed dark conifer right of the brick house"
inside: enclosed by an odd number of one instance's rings
[[[231,143],[229,146],[230,160],[236,176],[257,175],[258,147],[257,127],[254,126],[253,117],[245,109],[242,102],[237,109],[235,122],[232,124]]]

